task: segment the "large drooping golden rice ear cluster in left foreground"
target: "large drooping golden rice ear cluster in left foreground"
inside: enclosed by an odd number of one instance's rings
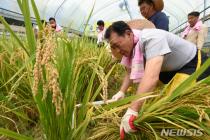
[[[54,38],[54,33],[49,27],[45,28],[45,40],[44,43],[39,43],[36,50],[36,62],[34,65],[34,84],[33,93],[36,96],[38,92],[39,83],[43,83],[43,97],[46,98],[47,92],[52,92],[52,103],[56,107],[57,115],[61,111],[62,94],[59,87],[58,79],[59,74],[54,66],[55,57],[54,51],[56,49],[56,42]],[[43,75],[44,73],[46,75]]]

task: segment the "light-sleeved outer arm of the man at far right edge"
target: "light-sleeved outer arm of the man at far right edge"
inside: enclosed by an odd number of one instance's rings
[[[208,34],[208,28],[207,27],[202,27],[201,30],[198,32],[198,38],[197,38],[197,47],[199,50],[202,49],[203,44],[205,42],[205,38],[207,37]]]

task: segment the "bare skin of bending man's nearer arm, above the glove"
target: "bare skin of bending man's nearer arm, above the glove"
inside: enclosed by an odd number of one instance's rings
[[[137,94],[150,92],[152,91],[159,80],[159,74],[162,67],[164,56],[156,56],[154,58],[151,58],[147,60],[146,67],[145,67],[145,73],[141,80],[141,83],[138,86]],[[133,111],[138,112],[143,101],[133,101],[131,103],[131,109]]]

